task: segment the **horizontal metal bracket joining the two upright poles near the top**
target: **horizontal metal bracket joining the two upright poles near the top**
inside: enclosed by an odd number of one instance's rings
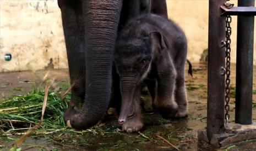
[[[223,11],[221,16],[227,15],[246,15],[246,16],[255,16],[256,15],[256,7],[232,7],[226,8],[225,5],[221,5],[220,7]]]

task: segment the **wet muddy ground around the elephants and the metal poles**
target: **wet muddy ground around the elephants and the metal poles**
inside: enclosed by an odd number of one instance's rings
[[[235,119],[235,66],[231,73],[231,122]],[[46,77],[54,81],[55,89],[59,85],[68,85],[67,70],[51,70],[37,72],[0,73],[0,100],[11,95],[23,95],[32,88],[44,88],[42,80]],[[256,67],[253,79],[253,119],[256,119]],[[58,83],[58,84],[56,84]],[[61,83],[61,84],[59,84]],[[209,146],[198,145],[197,131],[206,127],[207,68],[206,65],[193,64],[193,78],[186,77],[186,89],[189,102],[189,115],[185,119],[162,119],[152,111],[150,98],[145,95],[143,119],[145,127],[141,133],[121,131],[117,116],[110,117],[106,123],[96,126],[91,131],[52,132],[48,135],[30,136],[24,143],[23,150],[176,150],[161,140],[164,137],[181,150],[213,150]],[[20,136],[0,138],[0,149],[12,147],[13,139]],[[255,141],[244,141],[232,145],[227,150],[256,150]]]

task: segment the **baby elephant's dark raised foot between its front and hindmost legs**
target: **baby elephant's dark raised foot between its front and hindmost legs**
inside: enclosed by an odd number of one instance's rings
[[[165,119],[175,118],[178,112],[178,104],[175,101],[166,101],[165,103],[162,101],[161,103],[156,102],[155,108],[162,115],[162,118]]]

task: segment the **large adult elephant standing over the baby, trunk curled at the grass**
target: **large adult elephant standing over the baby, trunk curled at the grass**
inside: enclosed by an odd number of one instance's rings
[[[116,35],[129,21],[149,13],[167,17],[165,0],[58,0],[66,40],[71,100],[64,120],[88,129],[104,117],[111,91]],[[79,102],[83,106],[79,107]]]

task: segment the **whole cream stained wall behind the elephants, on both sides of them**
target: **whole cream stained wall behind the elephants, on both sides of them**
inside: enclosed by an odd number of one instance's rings
[[[169,17],[186,33],[192,62],[199,62],[208,48],[208,5],[208,0],[167,0]],[[68,67],[57,0],[0,0],[0,7],[0,72]],[[236,61],[236,24],[233,17],[232,62]],[[13,56],[9,62],[4,61],[6,53]]]

